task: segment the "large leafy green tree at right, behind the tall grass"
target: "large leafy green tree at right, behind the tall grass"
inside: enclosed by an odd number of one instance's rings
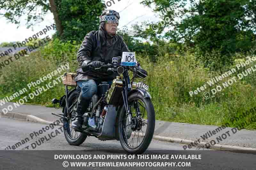
[[[161,34],[166,28],[165,38],[195,46],[200,55],[219,50],[224,64],[225,57],[246,52],[255,45],[255,0],[144,0],[142,4],[155,4],[154,11],[163,20],[170,18],[155,33]],[[148,25],[146,30],[140,30],[140,36],[156,37]],[[209,61],[204,59],[207,65]]]

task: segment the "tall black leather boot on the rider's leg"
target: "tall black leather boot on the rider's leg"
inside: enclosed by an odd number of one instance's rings
[[[82,125],[84,122],[84,112],[87,110],[89,107],[90,100],[85,100],[82,98],[82,93],[80,93],[76,108],[74,108],[74,118],[72,119],[71,127],[77,131],[82,131]]]

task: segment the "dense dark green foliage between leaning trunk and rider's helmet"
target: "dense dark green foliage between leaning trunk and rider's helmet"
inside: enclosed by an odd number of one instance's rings
[[[63,34],[55,37],[62,41],[82,41],[85,35],[92,30],[98,30],[99,16],[104,10],[102,0],[55,0],[60,20],[62,21]]]

